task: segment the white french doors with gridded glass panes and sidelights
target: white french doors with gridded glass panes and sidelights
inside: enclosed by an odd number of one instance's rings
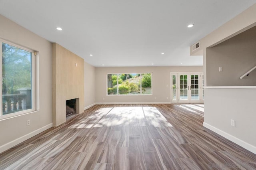
[[[171,73],[171,103],[203,103],[203,73]]]

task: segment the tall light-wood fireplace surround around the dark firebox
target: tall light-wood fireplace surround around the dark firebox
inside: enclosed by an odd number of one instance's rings
[[[79,111],[84,111],[84,59],[53,43],[53,126],[66,122],[66,100],[79,98]],[[78,103],[76,103],[78,105]]]

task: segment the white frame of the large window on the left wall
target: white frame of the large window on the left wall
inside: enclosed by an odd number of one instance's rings
[[[6,115],[3,115],[3,101],[2,101],[2,43],[6,43],[8,45],[12,45],[14,47],[17,47],[19,49],[28,51],[31,53],[31,97],[32,97],[32,108],[31,109],[26,109],[26,110],[22,110],[22,111],[17,111],[14,113],[9,113]],[[4,119],[10,119],[12,117],[17,117],[20,115],[26,115],[28,113],[32,113],[34,111],[36,111],[36,55],[35,53],[37,53],[37,51],[34,51],[32,49],[26,48],[24,46],[18,45],[16,43],[12,43],[6,40],[3,40],[0,38],[0,121],[4,120]]]

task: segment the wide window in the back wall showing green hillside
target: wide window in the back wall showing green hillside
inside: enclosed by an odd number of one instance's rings
[[[107,74],[107,95],[152,95],[152,73]]]

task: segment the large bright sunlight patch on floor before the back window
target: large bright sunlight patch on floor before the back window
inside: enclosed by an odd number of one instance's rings
[[[156,107],[108,107],[95,111],[70,128],[145,126],[146,124],[158,128],[172,127]]]

